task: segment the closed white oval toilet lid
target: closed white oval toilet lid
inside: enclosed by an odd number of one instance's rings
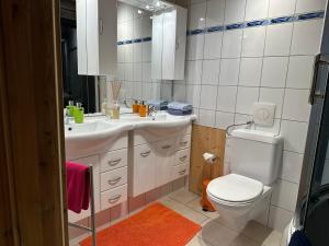
[[[263,184],[238,174],[213,179],[207,186],[213,197],[228,202],[250,202],[263,192]]]

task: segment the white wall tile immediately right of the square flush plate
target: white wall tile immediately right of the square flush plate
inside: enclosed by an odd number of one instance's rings
[[[310,105],[308,90],[286,89],[283,105],[283,119],[308,121]]]

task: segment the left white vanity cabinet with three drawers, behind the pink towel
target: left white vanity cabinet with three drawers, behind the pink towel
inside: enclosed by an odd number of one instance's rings
[[[95,212],[120,204],[127,199],[127,147],[128,134],[124,132],[110,139],[109,143],[98,151],[89,149],[90,151],[67,152],[68,160],[93,167]],[[68,214],[69,222],[77,222],[90,216],[90,209],[82,210],[79,214],[68,211]]]

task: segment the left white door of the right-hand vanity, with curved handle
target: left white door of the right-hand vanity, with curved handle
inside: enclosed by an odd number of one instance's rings
[[[134,148],[133,173],[133,197],[156,188],[156,157],[149,144]]]

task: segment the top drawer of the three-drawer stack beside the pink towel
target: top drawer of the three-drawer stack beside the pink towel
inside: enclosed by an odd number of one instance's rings
[[[127,149],[101,154],[101,172],[106,172],[127,165]]]

